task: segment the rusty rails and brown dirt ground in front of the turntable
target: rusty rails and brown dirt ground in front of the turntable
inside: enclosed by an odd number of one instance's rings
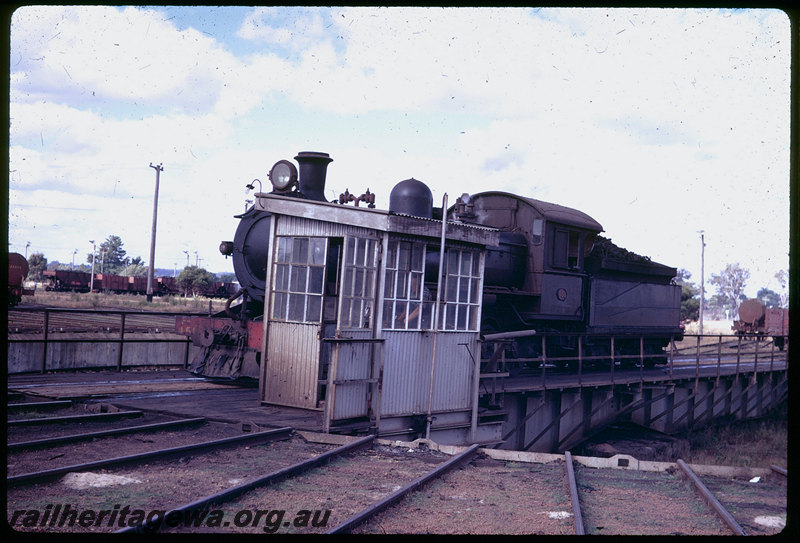
[[[751,483],[692,476],[681,462],[594,469],[569,453],[532,463],[146,412],[65,420],[84,406],[19,402],[10,422],[39,419],[9,426],[7,515],[22,531],[734,533],[700,487],[743,533],[776,533],[756,519],[785,518],[777,472]]]

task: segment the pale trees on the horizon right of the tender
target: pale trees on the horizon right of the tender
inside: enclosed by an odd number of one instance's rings
[[[678,270],[675,282],[681,287],[681,321],[696,321],[700,318],[700,287],[690,281],[692,274]],[[762,287],[756,293],[756,299],[767,307],[789,307],[789,273],[780,270],[775,274],[780,285],[780,292]],[[736,312],[747,296],[744,294],[750,271],[738,262],[728,264],[719,273],[712,273],[709,284],[716,288],[716,293],[706,298],[703,307],[704,317],[711,320],[725,320],[736,317]],[[707,293],[706,293],[707,294]]]

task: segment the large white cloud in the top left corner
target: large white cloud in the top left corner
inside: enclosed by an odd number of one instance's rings
[[[12,32],[19,36],[12,93],[30,102],[203,111],[236,64],[202,33],[177,31],[160,13],[132,7],[25,6],[14,13]]]

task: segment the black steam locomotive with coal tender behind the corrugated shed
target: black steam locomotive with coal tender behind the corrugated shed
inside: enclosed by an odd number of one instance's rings
[[[228,301],[225,312],[211,318],[180,318],[177,323],[178,330],[190,335],[199,347],[190,367],[195,373],[258,378],[266,344],[262,337],[267,328],[265,306],[270,322],[292,321],[293,313],[294,320],[302,322],[303,315],[319,313],[318,339],[339,336],[340,324],[336,323],[341,323],[344,311],[351,320],[372,323],[373,336],[379,335],[376,328],[386,331],[408,326],[393,320],[398,309],[404,318],[416,319],[414,326],[421,331],[466,330],[477,318],[474,329],[483,337],[506,338],[509,358],[571,358],[560,362],[565,367],[574,366],[578,354],[598,364],[619,364],[621,360],[652,366],[666,362],[664,347],[671,339],[682,337],[680,287],[673,282],[676,269],[616,246],[600,236],[602,226],[581,211],[497,191],[464,194],[454,205],[448,207],[444,202],[439,208],[433,206],[430,189],[413,178],[394,187],[388,212],[374,210],[374,195],[369,190],[358,197],[348,190],[338,201],[328,202],[324,187],[332,159],[326,153],[301,152],[295,160],[299,169],[289,160],[272,167],[272,192],[256,193],[256,203],[237,216],[233,241],[220,244],[220,252],[233,258],[241,290]],[[248,188],[255,187],[251,183]],[[462,270],[458,272],[461,275],[456,274],[458,281],[447,283],[441,280],[445,273],[441,270],[445,264],[456,263],[440,262],[444,260],[441,254],[453,258],[452,253],[443,252],[444,234],[441,251],[430,238],[420,250],[410,242],[403,245],[403,241],[384,245],[386,254],[377,251],[374,267],[359,271],[377,276],[361,276],[376,285],[377,293],[359,298],[342,289],[342,284],[351,280],[343,271],[345,242],[322,230],[313,231],[306,235],[320,237],[303,238],[304,243],[324,240],[325,235],[327,242],[298,249],[297,243],[291,245],[286,241],[289,238],[281,238],[275,231],[276,211],[270,209],[279,208],[266,208],[259,203],[261,199],[284,202],[284,209],[292,204],[299,214],[312,219],[317,209],[334,216],[339,206],[352,209],[349,202],[354,201],[356,207],[364,202],[370,212],[365,209],[358,219],[341,213],[341,219],[328,224],[345,228],[351,221],[353,227],[362,226],[371,224],[375,216],[376,224],[378,218],[394,221],[392,224],[407,223],[409,240],[430,223],[442,224],[443,229],[458,227],[469,231],[465,236],[479,240],[483,235],[495,242],[485,247],[480,259],[469,261],[472,271]],[[402,229],[395,235],[402,239]],[[301,259],[304,271],[292,267],[293,258],[299,257],[291,253],[298,250],[311,255]],[[408,254],[401,254],[404,250]],[[318,267],[312,265],[315,251],[325,258]],[[399,264],[401,261],[407,264]],[[406,272],[400,274],[402,270]],[[415,280],[425,288],[419,288]],[[435,304],[437,298],[441,307]],[[348,305],[341,309],[345,300]],[[463,300],[480,300],[479,307]],[[417,308],[421,316],[414,317]],[[438,316],[434,308],[440,311]],[[378,309],[381,320],[374,322]],[[546,342],[543,335],[547,335]]]

